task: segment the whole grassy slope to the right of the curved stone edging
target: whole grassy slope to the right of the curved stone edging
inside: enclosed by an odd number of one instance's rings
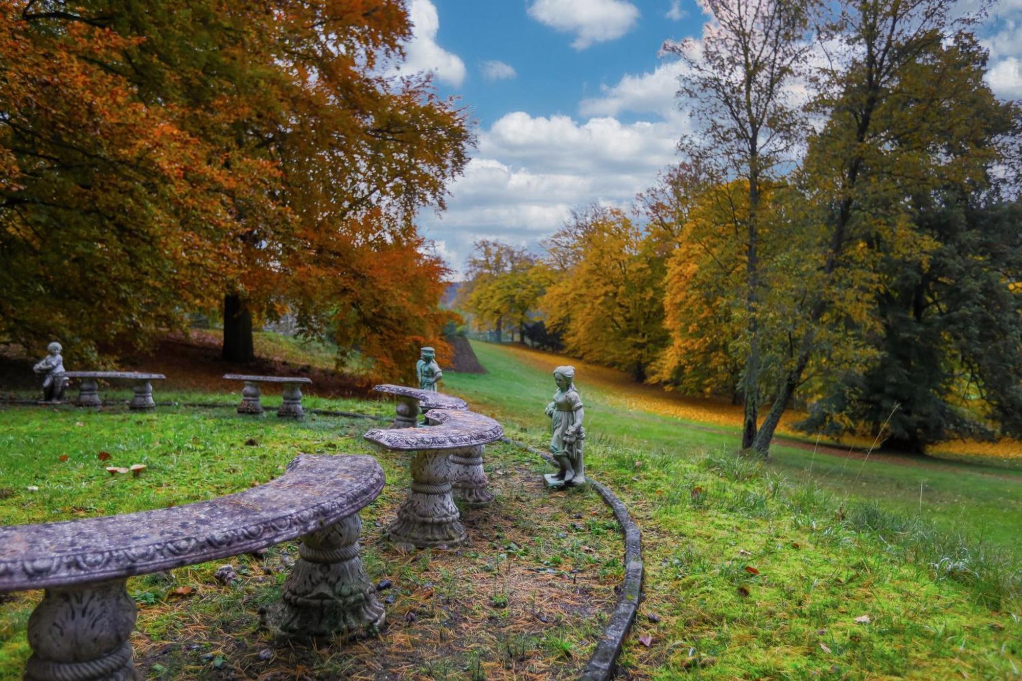
[[[565,360],[474,349],[489,373],[448,374],[445,389],[545,446],[550,370]],[[1019,677],[1019,562],[1004,551],[1019,551],[1016,476],[787,447],[760,464],[734,455],[732,435],[626,411],[630,385],[598,375],[577,374],[587,465],[643,531],[630,678]]]

